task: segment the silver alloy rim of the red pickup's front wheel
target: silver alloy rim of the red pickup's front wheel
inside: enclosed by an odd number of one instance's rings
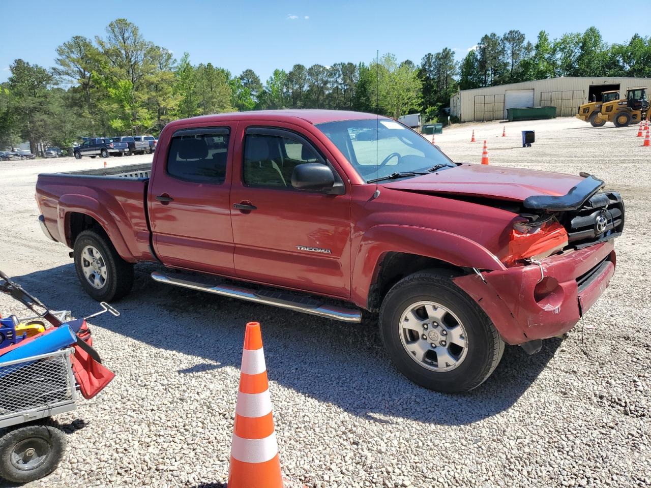
[[[468,351],[462,321],[434,301],[413,303],[402,312],[400,342],[411,359],[434,372],[458,368]]]

